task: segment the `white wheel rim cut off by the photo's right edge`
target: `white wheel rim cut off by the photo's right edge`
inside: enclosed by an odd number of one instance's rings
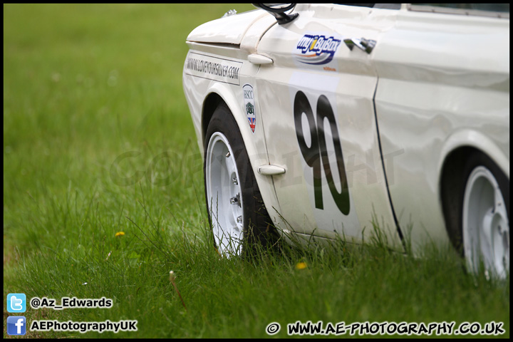
[[[486,167],[470,173],[463,198],[463,245],[469,268],[505,278],[509,273],[509,221],[500,187]]]

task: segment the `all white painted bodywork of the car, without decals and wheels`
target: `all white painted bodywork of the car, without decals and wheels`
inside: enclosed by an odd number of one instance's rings
[[[371,236],[377,217],[390,247],[400,249],[396,217],[413,247],[428,241],[447,244],[440,202],[445,157],[458,147],[472,146],[489,155],[509,178],[509,19],[420,13],[406,6],[390,10],[299,4],[295,11],[299,18],[290,24],[279,26],[273,16],[257,10],[203,24],[187,38],[184,90],[200,150],[204,101],[216,93],[239,125],[269,215],[285,231],[339,234],[361,242]],[[302,36],[314,33],[341,41],[365,37],[377,44],[366,53],[350,50],[342,41],[327,68],[311,66],[292,54]],[[482,47],[478,56],[476,46]],[[250,63],[251,53],[273,63]],[[190,58],[198,55],[205,61],[240,63],[237,82],[187,70]],[[245,84],[254,90],[254,133],[244,110]],[[293,118],[299,90],[314,115],[321,95],[333,108],[350,214],[331,203],[325,170],[321,193],[326,207],[316,208],[311,167],[301,155]],[[487,118],[486,124],[480,118]],[[261,175],[261,165],[286,172]],[[335,187],[340,190],[340,183]],[[409,224],[413,229],[406,232]]]

